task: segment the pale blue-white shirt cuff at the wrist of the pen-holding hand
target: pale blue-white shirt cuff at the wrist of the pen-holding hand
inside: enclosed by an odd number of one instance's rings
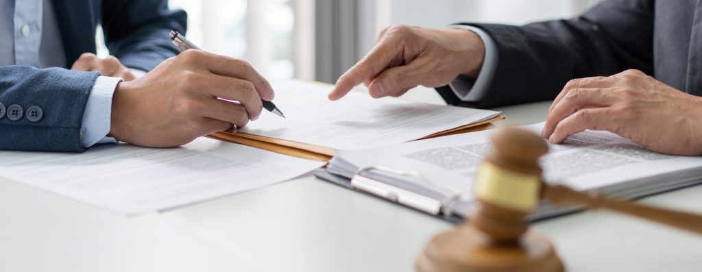
[[[112,118],[112,95],[121,81],[120,78],[109,76],[100,76],[95,81],[83,114],[81,125],[83,147],[117,142],[113,137],[107,137],[107,134],[110,133]]]

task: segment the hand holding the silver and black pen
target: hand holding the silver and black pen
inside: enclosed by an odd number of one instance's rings
[[[177,147],[256,120],[261,97],[272,100],[273,90],[248,63],[187,50],[140,79],[119,83],[110,136],[143,147]]]

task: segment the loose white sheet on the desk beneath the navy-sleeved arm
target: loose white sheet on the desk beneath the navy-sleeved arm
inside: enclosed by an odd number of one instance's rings
[[[323,165],[207,138],[175,149],[105,144],[83,154],[0,151],[3,177],[130,215],[256,189]]]

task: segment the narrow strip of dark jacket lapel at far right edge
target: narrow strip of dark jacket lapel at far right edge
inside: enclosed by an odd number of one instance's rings
[[[697,0],[691,29],[685,91],[702,95],[702,0]]]

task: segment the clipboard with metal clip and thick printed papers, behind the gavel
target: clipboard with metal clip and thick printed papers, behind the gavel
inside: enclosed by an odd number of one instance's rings
[[[541,132],[543,123],[523,127]],[[473,206],[473,181],[484,156],[491,150],[489,131],[439,137],[376,149],[340,151],[317,177],[360,189],[383,198],[439,215],[448,204],[453,215],[468,215]],[[541,158],[543,178],[580,191],[598,190],[630,199],[702,183],[702,158],[669,156],[647,151],[611,132],[585,131],[564,144],[548,144]],[[358,185],[351,179],[365,171]],[[418,176],[397,175],[413,171]],[[399,193],[398,193],[399,192]],[[403,203],[402,197],[412,198]],[[449,196],[456,196],[451,198]],[[414,200],[418,200],[414,201]],[[433,203],[433,204],[432,204]],[[541,205],[532,219],[559,215],[573,209]],[[440,215],[439,215],[440,216]]]

